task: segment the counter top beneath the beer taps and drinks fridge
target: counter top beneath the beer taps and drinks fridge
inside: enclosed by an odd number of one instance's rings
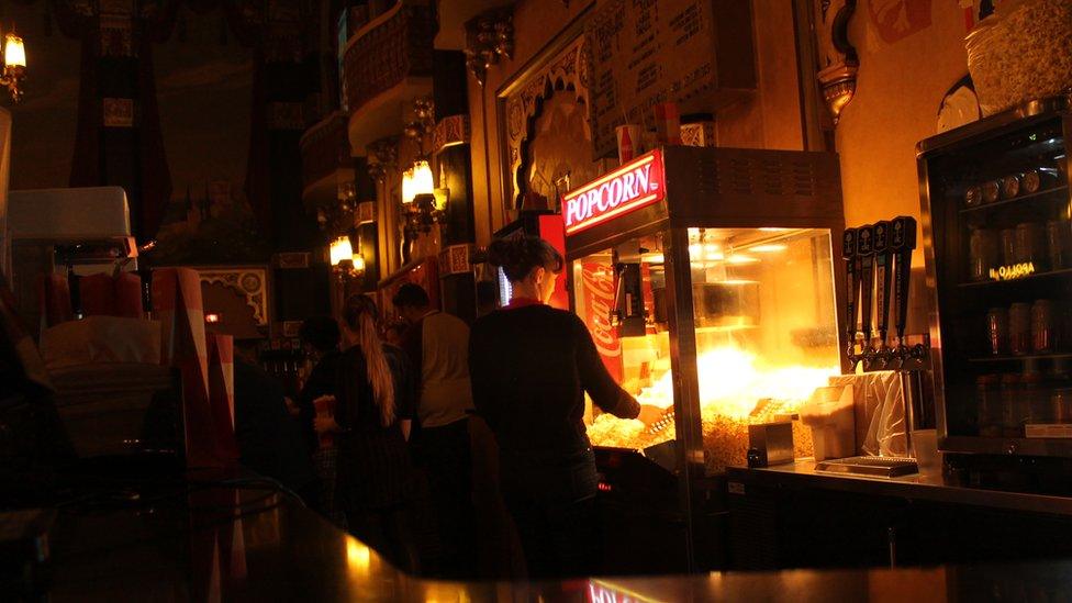
[[[735,467],[728,470],[728,479],[730,493],[747,489],[747,483],[750,482],[1072,515],[1072,498],[971,488],[956,483],[940,473],[916,473],[900,478],[822,473],[815,471],[815,461],[811,459],[755,469]]]

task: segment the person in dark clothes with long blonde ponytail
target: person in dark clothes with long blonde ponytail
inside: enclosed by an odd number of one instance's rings
[[[414,472],[406,447],[414,414],[412,370],[405,354],[379,336],[379,313],[366,295],[342,312],[343,346],[334,416],[317,417],[338,447],[336,498],[350,531],[392,563],[418,569],[409,528]]]

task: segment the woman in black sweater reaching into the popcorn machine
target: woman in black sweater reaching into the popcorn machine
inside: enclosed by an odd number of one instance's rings
[[[584,428],[584,393],[604,412],[634,418],[639,404],[603,366],[577,315],[546,302],[562,257],[537,237],[494,241],[514,298],[477,320],[469,372],[477,412],[499,442],[503,500],[532,578],[600,569],[599,479]]]

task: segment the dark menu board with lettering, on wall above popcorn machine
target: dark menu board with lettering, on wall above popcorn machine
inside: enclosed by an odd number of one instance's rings
[[[585,34],[596,158],[614,153],[616,126],[654,129],[655,103],[712,110],[701,101],[718,85],[713,0],[601,0]]]

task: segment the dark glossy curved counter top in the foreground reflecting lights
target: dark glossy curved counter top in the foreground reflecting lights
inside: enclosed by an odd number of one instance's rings
[[[112,510],[65,510],[52,534],[52,568],[36,594],[55,602],[964,601],[995,593],[1050,593],[1037,600],[1054,600],[1072,592],[1072,561],[544,583],[427,580],[395,570],[283,495],[237,487],[201,487]]]

